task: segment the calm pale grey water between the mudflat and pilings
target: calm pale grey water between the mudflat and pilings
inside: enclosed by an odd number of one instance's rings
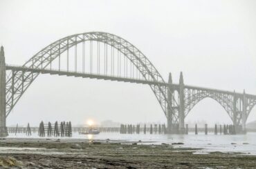
[[[9,138],[24,138],[24,134],[10,134]],[[32,138],[39,138],[37,133],[31,136]],[[62,138],[60,138],[62,139]],[[73,133],[72,138],[66,139],[94,139],[94,140],[106,140],[111,141],[143,141],[144,144],[161,144],[161,143],[177,143],[182,142],[183,145],[175,145],[175,147],[184,148],[203,148],[198,150],[198,153],[207,152],[242,152],[247,155],[256,155],[256,132],[248,132],[246,135],[120,135],[116,132],[102,132],[99,135],[79,135]],[[235,144],[232,144],[235,143]]]

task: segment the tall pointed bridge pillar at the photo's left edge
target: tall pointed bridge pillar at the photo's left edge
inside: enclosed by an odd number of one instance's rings
[[[0,50],[0,137],[7,137],[6,128],[6,61],[3,46]]]

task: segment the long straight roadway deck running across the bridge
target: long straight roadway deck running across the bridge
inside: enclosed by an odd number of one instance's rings
[[[145,79],[132,79],[126,77],[116,77],[116,76],[108,76],[104,74],[91,74],[86,72],[73,72],[73,71],[66,71],[66,70],[56,70],[56,69],[41,69],[41,68],[28,68],[24,66],[15,66],[15,65],[8,65],[6,64],[6,70],[15,70],[15,71],[23,71],[23,72],[35,72],[40,74],[57,74],[60,76],[67,76],[67,77],[82,77],[82,78],[89,78],[89,79],[103,79],[103,80],[110,80],[110,81],[122,81],[122,82],[129,82],[129,83],[140,83],[140,84],[148,84],[148,85],[158,85],[158,86],[172,86],[172,88],[179,88],[178,83],[163,83],[161,81],[147,81]],[[191,90],[207,90],[208,92],[217,92],[227,95],[232,95],[234,92],[227,91],[227,90],[218,90],[213,88],[201,88],[197,86],[188,86],[185,85],[184,88],[191,89]],[[243,95],[243,93],[236,92],[236,95]],[[247,97],[253,97],[256,99],[256,95],[246,94]]]

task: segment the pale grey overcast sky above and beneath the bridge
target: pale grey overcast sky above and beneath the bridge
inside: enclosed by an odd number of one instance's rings
[[[256,1],[0,1],[0,45],[6,63],[23,65],[71,34],[102,31],[131,42],[167,81],[256,95]],[[107,119],[161,122],[166,117],[147,85],[40,74],[7,125]],[[253,108],[248,122],[256,120]],[[232,123],[213,99],[196,105],[186,122]]]

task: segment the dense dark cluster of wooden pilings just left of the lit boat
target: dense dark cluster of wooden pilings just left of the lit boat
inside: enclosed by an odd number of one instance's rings
[[[65,122],[62,121],[60,126],[57,121],[54,123],[54,128],[52,127],[52,123],[48,122],[48,124],[44,124],[42,121],[39,124],[38,135],[39,137],[72,137],[72,126],[71,121]]]

